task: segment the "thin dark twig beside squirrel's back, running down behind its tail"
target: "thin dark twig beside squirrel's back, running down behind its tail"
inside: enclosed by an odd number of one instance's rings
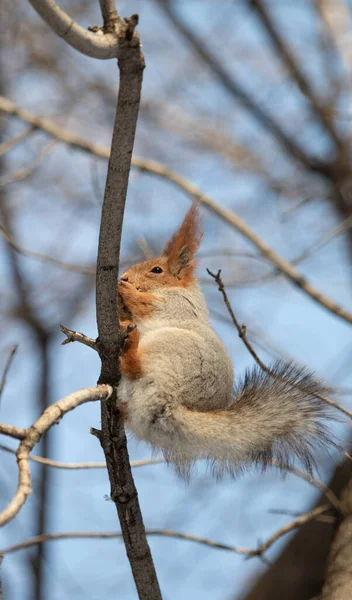
[[[233,324],[235,325],[237,331],[238,331],[238,335],[241,338],[241,340],[243,341],[244,345],[246,346],[248,352],[250,353],[250,355],[254,358],[255,362],[260,366],[260,368],[265,371],[265,373],[268,373],[268,375],[271,375],[272,377],[274,377],[275,379],[280,379],[282,381],[287,381],[287,383],[289,383],[293,388],[299,388],[299,385],[296,385],[295,383],[293,383],[292,381],[290,381],[289,379],[286,379],[285,377],[280,377],[277,374],[275,374],[269,367],[266,366],[265,363],[263,363],[263,361],[261,360],[261,358],[259,358],[258,354],[256,353],[256,351],[254,350],[253,346],[251,345],[251,343],[249,342],[247,335],[246,335],[246,326],[245,325],[240,325],[239,322],[237,321],[235,314],[232,310],[232,306],[231,303],[227,297],[227,293],[225,290],[225,286],[224,283],[221,279],[221,270],[219,270],[216,274],[212,273],[211,271],[209,271],[209,269],[207,269],[209,275],[211,277],[214,278],[215,282],[217,283],[217,285],[219,286],[219,291],[221,292],[226,308],[230,314],[230,317],[232,319]],[[326,402],[327,404],[329,404],[330,406],[333,406],[334,408],[337,408],[337,410],[340,410],[341,412],[343,412],[345,415],[348,415],[349,417],[352,418],[352,412],[347,410],[347,408],[344,408],[343,406],[340,406],[340,404],[338,404],[337,402],[335,402],[334,400],[331,400],[331,398],[329,398],[328,396],[324,396],[322,394],[318,394],[316,392],[311,392],[311,394],[313,396],[316,396],[317,398],[320,398],[320,400],[323,400],[323,402]]]

